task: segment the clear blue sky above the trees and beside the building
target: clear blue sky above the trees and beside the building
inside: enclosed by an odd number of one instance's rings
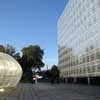
[[[65,5],[66,0],[0,0],[0,44],[17,52],[40,45],[48,67],[57,64],[57,21]]]

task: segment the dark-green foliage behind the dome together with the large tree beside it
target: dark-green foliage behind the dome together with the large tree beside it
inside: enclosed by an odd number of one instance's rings
[[[25,79],[32,82],[32,68],[39,69],[40,71],[41,67],[44,66],[42,61],[44,51],[38,45],[24,47],[22,49],[22,56],[9,44],[6,46],[0,45],[0,52],[11,55],[20,63],[23,69],[23,80]]]

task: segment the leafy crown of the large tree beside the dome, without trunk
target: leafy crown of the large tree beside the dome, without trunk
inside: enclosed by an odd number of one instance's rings
[[[22,49],[23,58],[30,68],[38,68],[41,70],[41,67],[44,66],[42,61],[44,51],[38,45],[30,45]]]

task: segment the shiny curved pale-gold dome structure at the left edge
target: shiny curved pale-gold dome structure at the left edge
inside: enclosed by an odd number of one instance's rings
[[[11,56],[0,53],[0,88],[15,87],[22,76],[22,69]]]

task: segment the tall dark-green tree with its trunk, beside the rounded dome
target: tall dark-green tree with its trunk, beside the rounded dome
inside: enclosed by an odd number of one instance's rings
[[[32,69],[41,70],[41,67],[44,66],[43,55],[44,51],[38,45],[30,45],[22,49],[20,64],[23,69],[24,79],[32,81]]]

